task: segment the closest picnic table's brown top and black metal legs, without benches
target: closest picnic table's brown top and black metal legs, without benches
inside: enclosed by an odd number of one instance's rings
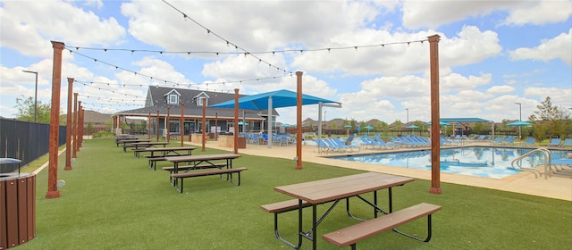
[[[274,190],[292,196],[299,200],[299,238],[298,245],[294,245],[282,237],[278,237],[284,243],[291,247],[299,248],[302,245],[302,237],[312,241],[312,249],[316,249],[316,235],[317,226],[329,214],[332,208],[338,204],[342,199],[346,199],[348,214],[352,218],[356,218],[349,212],[349,197],[356,196],[360,200],[366,202],[374,208],[374,217],[377,217],[378,212],[383,212],[377,205],[377,191],[381,189],[388,189],[389,192],[389,212],[392,212],[392,195],[391,187],[402,186],[408,182],[413,181],[413,178],[396,176],[391,174],[384,174],[378,172],[366,172],[355,175],[349,175],[333,179],[321,179],[299,184],[293,184],[282,187],[274,187]],[[363,194],[374,192],[374,201],[370,202],[364,198]],[[318,218],[316,207],[318,204],[333,202],[332,206]],[[312,206],[312,229],[304,231],[302,229],[302,208],[310,204]],[[388,212],[383,212],[388,213]],[[357,218],[356,218],[357,219]],[[362,219],[363,220],[363,219]]]

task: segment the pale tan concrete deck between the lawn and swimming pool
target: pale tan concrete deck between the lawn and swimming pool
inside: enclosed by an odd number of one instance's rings
[[[186,144],[193,146],[202,146],[201,144],[189,143]],[[491,146],[487,143],[473,143],[467,146]],[[218,141],[209,140],[206,142],[206,147],[232,151],[230,147],[219,146]],[[378,164],[364,163],[364,162],[347,162],[342,160],[329,159],[324,156],[332,156],[336,154],[318,154],[315,151],[315,146],[304,145],[302,146],[302,162],[315,162],[326,165],[338,166],[342,168],[355,169],[360,171],[377,171],[402,176],[413,177],[416,179],[431,179],[431,171],[413,170],[401,167],[383,166]],[[198,149],[200,150],[200,149]],[[361,149],[356,154],[374,154],[384,153],[391,151],[401,150],[371,150]],[[247,148],[240,148],[239,154],[252,154],[259,156],[278,157],[292,160],[292,168],[296,167],[294,157],[296,157],[296,146],[277,146],[273,145],[268,148],[266,145],[251,145],[248,144]],[[344,153],[347,155],[351,153]],[[302,163],[302,166],[304,164]],[[543,196],[555,199],[572,201],[572,179],[562,177],[551,177],[544,179],[544,176],[536,179],[532,172],[520,172],[515,175],[503,179],[491,179],[475,176],[467,176],[460,174],[441,173],[441,181],[447,183],[454,183],[460,185],[467,185],[472,187],[485,187],[515,193],[521,193],[532,196]],[[427,192],[429,187],[427,187]],[[443,190],[447,192],[447,190]]]

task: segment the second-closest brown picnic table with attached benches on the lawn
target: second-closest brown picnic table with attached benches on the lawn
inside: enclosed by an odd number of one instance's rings
[[[208,176],[218,174],[221,175],[221,179],[223,174],[226,174],[227,179],[224,180],[232,180],[232,173],[239,174],[239,182],[235,184],[237,186],[240,185],[240,171],[245,171],[246,168],[239,168],[239,169],[232,169],[232,160],[239,158],[240,154],[199,154],[199,155],[182,155],[182,156],[170,156],[166,157],[165,159],[169,162],[173,163],[173,167],[171,170],[171,174],[169,175],[169,182],[172,184],[173,187],[177,188],[177,190],[182,193],[182,180],[185,178],[190,177],[199,177],[199,176]],[[215,161],[226,161],[224,163],[217,163]],[[189,162],[188,166],[181,167],[179,163],[181,162]],[[223,169],[226,166],[226,169]],[[191,170],[198,170],[198,169],[205,169],[205,168],[216,168],[218,170],[214,171],[198,171],[198,172],[190,172]],[[180,170],[185,170],[185,174],[179,173]],[[164,168],[166,170],[166,168]],[[178,179],[181,179],[181,184],[179,185]]]

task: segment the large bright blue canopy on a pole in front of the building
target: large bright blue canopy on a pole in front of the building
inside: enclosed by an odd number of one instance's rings
[[[287,89],[266,92],[252,96],[242,96],[239,98],[239,108],[263,111],[268,110],[268,127],[272,126],[273,108],[293,107],[298,104],[298,94]],[[302,94],[302,105],[307,104],[340,104],[324,98]],[[220,104],[211,105],[218,108],[233,108],[234,100],[229,100]],[[297,142],[301,143],[301,142]],[[272,131],[268,133],[268,147],[272,147]]]

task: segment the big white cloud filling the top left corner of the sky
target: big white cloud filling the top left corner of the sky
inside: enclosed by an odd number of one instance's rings
[[[46,13],[57,14],[46,17]],[[68,46],[109,45],[125,35],[113,17],[101,19],[94,12],[62,1],[5,1],[0,18],[2,46],[26,55],[49,57],[50,40]]]

